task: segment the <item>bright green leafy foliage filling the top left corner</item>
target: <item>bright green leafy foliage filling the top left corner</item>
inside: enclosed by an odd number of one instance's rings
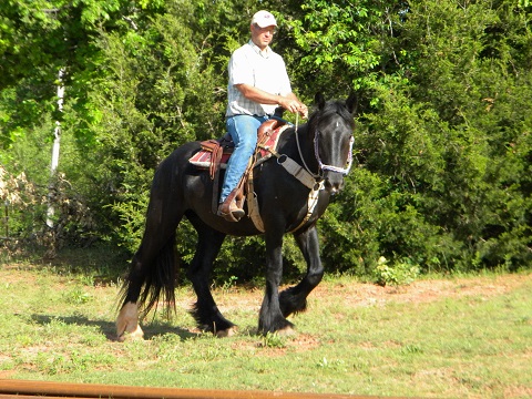
[[[0,90],[11,91],[11,99],[0,105],[6,115],[0,145],[9,147],[24,130],[38,127],[50,114],[61,120],[55,109],[60,69],[65,71],[66,102],[83,106],[88,86],[98,76],[96,31],[109,24],[112,29],[125,4],[121,0],[2,1]]]

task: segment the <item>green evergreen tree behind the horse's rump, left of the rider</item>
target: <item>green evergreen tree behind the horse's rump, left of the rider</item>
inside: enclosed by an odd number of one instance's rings
[[[102,69],[106,79],[89,94],[98,110],[91,126],[98,140],[83,155],[94,193],[109,193],[91,200],[105,201],[99,207],[108,236],[132,252],[142,235],[154,168],[177,145],[222,132],[223,120],[213,115],[217,80],[186,24],[191,12],[177,2],[136,29],[102,33],[99,42],[109,60]]]

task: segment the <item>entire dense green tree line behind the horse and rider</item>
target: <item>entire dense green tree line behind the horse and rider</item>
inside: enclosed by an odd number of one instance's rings
[[[319,222],[329,268],[370,275],[381,256],[426,270],[530,267],[528,1],[7,0],[0,161],[45,185],[37,154],[60,120],[60,172],[93,218],[70,231],[134,250],[158,162],[224,132],[227,61],[259,9],[277,17],[274,48],[301,99],[359,93],[358,167]],[[193,242],[185,227],[185,262]],[[252,278],[262,245],[228,241],[226,277]],[[288,268],[303,264],[285,249]]]

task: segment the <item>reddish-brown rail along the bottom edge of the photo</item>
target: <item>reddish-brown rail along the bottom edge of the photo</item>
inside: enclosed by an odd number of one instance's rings
[[[101,383],[70,383],[0,379],[0,399],[53,398],[146,398],[146,399],[377,399],[382,397],[295,393],[269,391],[236,391],[183,388],[126,387]],[[390,398],[387,398],[390,399]],[[399,399],[399,398],[396,398]],[[411,398],[410,398],[411,399]]]

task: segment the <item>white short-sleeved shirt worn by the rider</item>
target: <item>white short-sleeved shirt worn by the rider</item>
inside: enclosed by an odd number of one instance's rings
[[[235,84],[249,84],[270,94],[286,95],[291,92],[290,81],[283,58],[269,47],[264,51],[249,40],[236,49],[228,65],[229,83],[227,85],[226,116],[233,115],[272,115],[276,104],[258,104],[247,100]]]

